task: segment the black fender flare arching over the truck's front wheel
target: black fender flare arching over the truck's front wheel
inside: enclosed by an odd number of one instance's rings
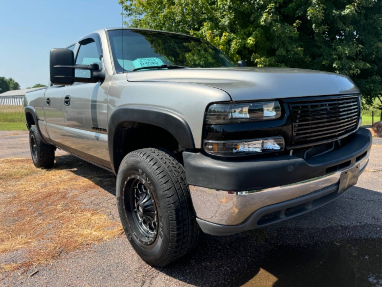
[[[151,106],[120,106],[110,115],[107,131],[108,150],[113,172],[117,174],[119,164],[114,150],[115,130],[122,122],[140,122],[161,127],[175,137],[182,148],[195,148],[194,138],[187,122],[177,114],[162,108]]]

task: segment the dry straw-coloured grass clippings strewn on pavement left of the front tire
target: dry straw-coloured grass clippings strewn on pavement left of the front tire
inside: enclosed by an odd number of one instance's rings
[[[73,166],[36,169],[30,159],[0,160],[0,256],[25,250],[20,262],[0,262],[0,274],[51,263],[58,256],[122,233],[105,210],[87,207],[95,178],[78,176]]]

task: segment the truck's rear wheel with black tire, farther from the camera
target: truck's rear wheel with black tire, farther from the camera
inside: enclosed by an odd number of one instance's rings
[[[48,145],[41,140],[41,135],[36,126],[31,126],[29,130],[29,147],[34,166],[37,168],[51,168],[54,163],[53,145]]]

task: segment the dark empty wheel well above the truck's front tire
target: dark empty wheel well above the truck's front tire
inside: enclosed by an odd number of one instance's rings
[[[116,171],[125,155],[146,147],[163,148],[183,162],[178,141],[170,132],[158,126],[141,122],[122,122],[115,129],[113,142]]]

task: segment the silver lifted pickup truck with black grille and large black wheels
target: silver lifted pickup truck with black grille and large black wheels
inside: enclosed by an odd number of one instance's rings
[[[50,51],[27,93],[34,165],[60,148],[117,176],[126,236],[155,266],[199,230],[228,235],[316,209],[356,184],[372,137],[346,76],[246,67],[199,38],[102,29]]]

